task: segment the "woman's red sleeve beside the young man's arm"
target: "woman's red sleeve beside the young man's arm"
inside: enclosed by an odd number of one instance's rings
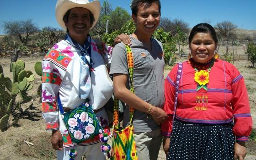
[[[165,79],[165,105],[163,110],[169,116],[168,119],[161,124],[161,134],[166,137],[171,136],[172,130],[172,117],[174,109],[174,99],[175,99],[175,78],[177,73],[177,65],[173,67],[171,72]]]

